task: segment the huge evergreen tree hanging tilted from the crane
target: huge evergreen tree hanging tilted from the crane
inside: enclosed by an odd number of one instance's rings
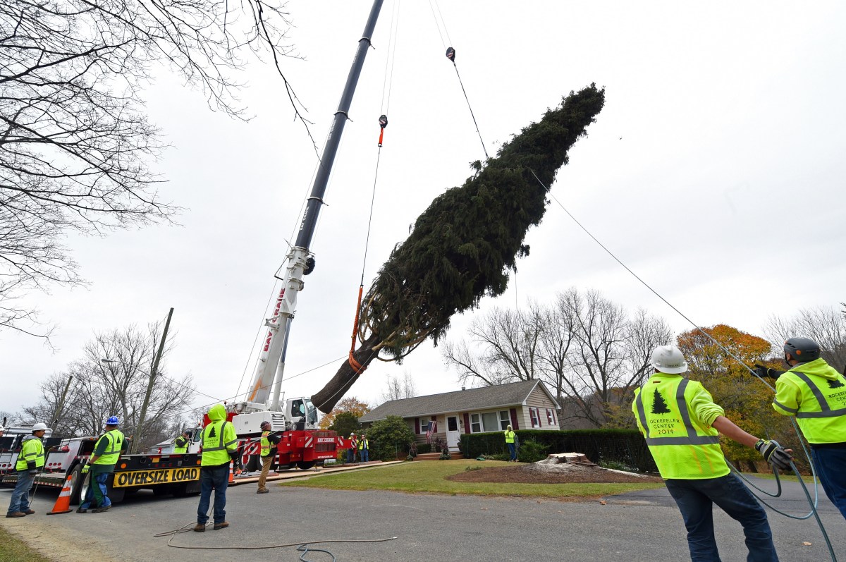
[[[359,348],[311,397],[321,411],[332,410],[380,353],[380,359],[400,361],[426,338],[437,344],[453,314],[478,306],[485,295],[505,292],[517,257],[529,254],[526,231],[546,211],[544,185],[552,184],[568,162],[570,147],[604,103],[604,89],[593,84],[570,92],[561,106],[503,144],[484,167],[475,163],[476,174],[464,185],[432,201],[367,292]]]

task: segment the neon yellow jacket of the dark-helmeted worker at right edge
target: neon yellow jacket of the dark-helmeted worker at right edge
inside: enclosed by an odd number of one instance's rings
[[[778,377],[772,408],[796,416],[810,444],[846,443],[846,377],[823,359],[800,363]]]

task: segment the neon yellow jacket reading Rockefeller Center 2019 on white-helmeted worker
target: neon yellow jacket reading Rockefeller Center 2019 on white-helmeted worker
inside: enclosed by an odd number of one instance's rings
[[[722,415],[711,394],[700,383],[684,377],[659,374],[634,390],[632,410],[664,478],[700,480],[729,473],[719,432],[698,416],[690,416],[693,399],[706,400]]]

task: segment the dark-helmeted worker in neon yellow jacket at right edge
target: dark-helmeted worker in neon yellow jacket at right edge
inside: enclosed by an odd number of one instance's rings
[[[846,378],[820,351],[813,339],[791,338],[784,342],[788,372],[758,369],[777,377],[772,407],[783,416],[796,416],[822,489],[846,518]]]

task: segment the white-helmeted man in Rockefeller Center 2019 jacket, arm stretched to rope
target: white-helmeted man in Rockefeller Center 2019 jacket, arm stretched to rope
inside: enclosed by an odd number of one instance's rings
[[[719,434],[754,447],[772,466],[787,469],[790,451],[744,432],[725,417],[701,383],[681,376],[687,362],[678,348],[662,345],[651,355],[653,374],[634,391],[632,411],[649,452],[682,512],[692,560],[719,560],[713,504],[744,528],[747,560],[777,561],[766,513],[749,488],[728,469]]]

